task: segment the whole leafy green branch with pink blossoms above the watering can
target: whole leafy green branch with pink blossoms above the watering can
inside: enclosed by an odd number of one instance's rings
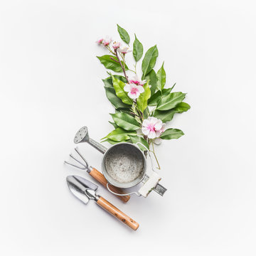
[[[97,41],[110,53],[110,55],[97,57],[102,65],[114,73],[123,73],[123,75],[117,75],[108,72],[110,76],[102,80],[105,84],[107,99],[115,109],[115,113],[111,114],[114,122],[110,122],[114,130],[102,139],[110,144],[140,142],[154,155],[160,169],[154,144],[156,140],[178,139],[183,136],[180,129],[166,129],[166,123],[170,122],[175,114],[188,111],[190,106],[183,102],[185,93],[172,92],[175,84],[172,87],[166,87],[164,63],[157,72],[154,70],[159,55],[157,47],[152,46],[144,54],[142,78],[139,78],[137,63],[143,57],[142,43],[134,34],[134,43],[130,50],[129,33],[119,25],[117,25],[117,31],[127,46],[122,46],[117,41],[112,42],[109,38],[101,38]],[[127,53],[131,51],[135,61],[134,70],[127,67],[125,60]],[[135,73],[134,78],[129,79],[127,75],[129,72]],[[146,155],[144,147],[139,147]]]

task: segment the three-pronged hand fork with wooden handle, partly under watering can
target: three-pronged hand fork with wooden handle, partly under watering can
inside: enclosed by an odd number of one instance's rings
[[[105,176],[102,173],[100,173],[100,171],[97,171],[97,169],[93,168],[92,166],[89,166],[85,157],[82,156],[82,154],[80,153],[78,148],[75,148],[75,151],[78,153],[78,155],[82,159],[83,163],[81,161],[79,161],[77,158],[75,158],[75,156],[73,156],[72,154],[70,154],[70,157],[72,159],[74,159],[75,161],[77,161],[78,164],[80,164],[81,166],[71,164],[68,161],[64,161],[65,164],[69,164],[70,166],[74,166],[78,169],[82,169],[82,170],[87,171],[87,173],[90,174],[90,176],[92,176],[92,178],[95,178],[96,181],[100,182],[105,188],[107,188],[107,180],[106,180]],[[117,188],[117,187],[112,186],[112,185],[109,185],[109,187],[112,191],[114,191],[114,193],[124,194],[124,191],[122,191],[121,188]],[[124,203],[127,203],[127,201],[129,201],[129,198],[130,198],[130,196],[117,196],[117,197],[119,199],[121,199]]]

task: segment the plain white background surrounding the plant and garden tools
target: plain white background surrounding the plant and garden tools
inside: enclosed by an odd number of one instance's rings
[[[95,40],[119,40],[116,23],[157,44],[191,104],[170,124],[186,136],[156,149],[164,197],[98,190],[136,232],[76,200],[65,177],[88,175],[63,165],[80,127],[112,130]],[[255,23],[254,1],[1,1],[0,254],[255,255]]]

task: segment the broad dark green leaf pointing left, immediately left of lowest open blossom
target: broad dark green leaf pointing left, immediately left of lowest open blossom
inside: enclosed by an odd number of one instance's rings
[[[111,114],[114,122],[121,128],[126,129],[127,131],[136,131],[140,128],[139,123],[134,117],[126,113],[116,113]]]

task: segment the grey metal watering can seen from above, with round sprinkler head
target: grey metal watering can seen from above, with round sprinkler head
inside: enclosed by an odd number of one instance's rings
[[[121,142],[107,149],[89,137],[87,127],[82,127],[75,134],[74,142],[75,144],[87,142],[104,154],[102,157],[102,174],[107,179],[107,189],[114,195],[128,196],[135,193],[137,196],[146,197],[152,190],[161,196],[164,195],[166,188],[159,184],[161,177],[154,170],[152,160],[151,171],[147,171],[146,157],[138,146],[138,144],[144,146],[143,144],[139,142],[137,144]],[[148,151],[148,149],[146,150]],[[151,154],[149,151],[148,153],[151,159]],[[124,194],[115,193],[109,186],[111,184],[117,188],[132,188],[141,182],[144,184],[139,188],[139,191]]]

